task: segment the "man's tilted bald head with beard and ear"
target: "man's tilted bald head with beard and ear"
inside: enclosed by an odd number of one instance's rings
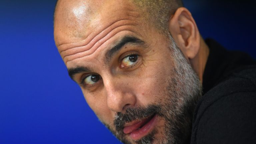
[[[181,6],[172,0],[57,3],[54,37],[69,75],[125,143],[189,140],[207,51]]]

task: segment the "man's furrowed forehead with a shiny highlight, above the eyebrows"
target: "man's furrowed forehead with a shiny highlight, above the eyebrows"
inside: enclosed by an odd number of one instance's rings
[[[105,48],[120,40],[125,31],[135,36],[143,33],[141,26],[138,27],[144,23],[143,17],[131,2],[98,1],[91,5],[86,1],[57,5],[54,38],[67,67],[89,62],[87,56],[99,57],[95,53],[106,52]]]

